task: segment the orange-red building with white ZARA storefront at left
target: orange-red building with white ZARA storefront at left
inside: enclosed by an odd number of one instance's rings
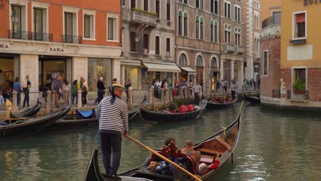
[[[9,0],[0,16],[0,64],[10,84],[29,75],[38,92],[60,75],[84,77],[96,90],[99,77],[107,86],[120,77],[120,1]]]

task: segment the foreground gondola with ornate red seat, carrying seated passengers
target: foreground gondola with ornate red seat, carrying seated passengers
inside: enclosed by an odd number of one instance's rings
[[[182,165],[185,165],[185,169],[187,169],[190,173],[200,175],[201,180],[213,180],[211,176],[215,175],[215,173],[217,173],[219,169],[221,169],[226,164],[226,162],[228,162],[229,158],[231,158],[231,161],[233,163],[233,152],[237,147],[239,135],[241,132],[241,108],[237,119],[235,119],[233,123],[228,125],[228,127],[223,128],[221,131],[213,134],[212,136],[209,136],[209,138],[206,138],[193,146],[193,149],[195,149],[195,151],[199,151],[201,153],[200,163],[204,163],[206,165],[206,167],[200,169],[200,173],[195,172],[195,163],[193,162],[193,160],[191,160],[191,158],[189,158],[185,154],[182,154],[180,152],[180,149],[178,149],[176,145],[174,145],[174,143],[171,143],[169,147],[163,147],[163,149],[159,149],[157,152],[167,158],[170,157],[172,160],[177,158],[176,156],[182,158],[182,160],[185,159],[186,162]],[[94,149],[91,160],[86,170],[85,180],[107,180],[104,177],[104,174],[99,170],[97,152],[97,149]],[[174,178],[174,176],[163,175],[162,173],[147,169],[147,165],[149,164],[149,162],[156,159],[157,156],[152,155],[151,158],[147,159],[145,165],[141,165],[134,169],[130,169],[129,171],[120,173],[119,176],[147,178],[154,181],[171,181],[178,180],[178,175],[180,176],[179,180],[193,180],[189,178],[189,176],[182,173],[176,173],[176,176]],[[213,165],[214,162],[216,162],[217,167],[212,169],[211,165]]]

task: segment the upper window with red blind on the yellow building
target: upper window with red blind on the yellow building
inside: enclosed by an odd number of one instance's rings
[[[294,35],[293,38],[306,38],[306,14],[307,12],[303,13],[294,13]]]

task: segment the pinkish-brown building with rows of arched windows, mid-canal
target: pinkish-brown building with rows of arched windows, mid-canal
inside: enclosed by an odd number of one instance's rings
[[[241,1],[176,1],[176,63],[180,80],[243,79]]]

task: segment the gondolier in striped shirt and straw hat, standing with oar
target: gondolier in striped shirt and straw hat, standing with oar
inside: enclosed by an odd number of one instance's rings
[[[106,175],[114,180],[121,180],[117,176],[121,159],[121,133],[123,136],[128,133],[128,108],[121,100],[123,91],[126,88],[121,84],[112,84],[112,95],[102,99],[96,109]]]

